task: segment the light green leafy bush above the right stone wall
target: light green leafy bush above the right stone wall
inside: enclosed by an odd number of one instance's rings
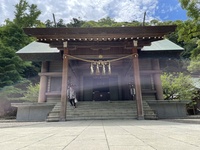
[[[192,100],[195,88],[189,75],[183,73],[164,73],[161,75],[164,99]]]

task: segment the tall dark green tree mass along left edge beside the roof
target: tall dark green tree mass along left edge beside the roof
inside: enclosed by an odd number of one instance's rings
[[[0,27],[0,88],[18,82],[36,67],[22,61],[15,52],[33,41],[22,28],[40,26],[37,20],[40,11],[25,0],[20,0],[15,8],[14,20],[6,20],[6,25]]]

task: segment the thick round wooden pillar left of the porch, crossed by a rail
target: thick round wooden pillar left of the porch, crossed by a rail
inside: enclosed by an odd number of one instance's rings
[[[47,61],[42,62],[41,73],[45,73],[48,71],[49,63]],[[40,76],[40,90],[38,96],[38,103],[44,103],[46,101],[46,91],[47,91],[47,76]]]

